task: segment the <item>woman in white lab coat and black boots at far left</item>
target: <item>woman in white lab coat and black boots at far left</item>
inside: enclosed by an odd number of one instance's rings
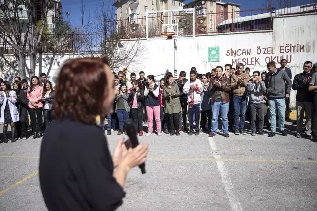
[[[2,91],[0,91],[0,104],[2,104],[2,106],[1,106],[0,122],[4,123],[3,142],[4,143],[8,142],[6,134],[8,131],[9,124],[11,124],[11,130],[12,130],[11,142],[15,142],[16,132],[15,132],[14,122],[17,122],[20,120],[19,111],[15,105],[17,96],[16,96],[15,91],[11,90],[11,84],[8,81],[3,81],[1,83],[1,89],[2,89]]]

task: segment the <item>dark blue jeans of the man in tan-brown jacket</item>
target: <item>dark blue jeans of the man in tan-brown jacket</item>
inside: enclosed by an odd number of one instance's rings
[[[235,107],[234,129],[243,130],[245,127],[247,96],[233,96],[233,104]],[[240,121],[239,121],[240,117]]]

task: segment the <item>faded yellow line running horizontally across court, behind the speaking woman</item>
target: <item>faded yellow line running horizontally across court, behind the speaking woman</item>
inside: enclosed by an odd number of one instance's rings
[[[0,155],[0,158],[40,158],[39,156]],[[151,161],[223,161],[223,162],[312,162],[317,160],[278,160],[278,159],[214,159],[214,158],[148,158]]]

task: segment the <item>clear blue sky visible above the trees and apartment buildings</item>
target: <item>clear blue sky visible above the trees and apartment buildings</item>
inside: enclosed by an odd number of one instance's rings
[[[113,9],[115,11],[115,7],[112,6],[115,0],[83,0],[85,4],[85,14],[92,14],[96,9],[100,8],[103,4],[104,8]],[[186,0],[184,4],[189,3],[193,0]],[[241,4],[240,10],[250,10],[250,9],[260,9],[263,8],[266,0],[223,0],[223,2],[232,2]],[[63,9],[63,17],[65,20],[69,21],[72,26],[80,26],[81,25],[81,0],[61,0]],[[70,15],[67,17],[66,12],[69,12]],[[243,16],[243,12],[241,14]],[[249,14],[248,14],[249,15]]]

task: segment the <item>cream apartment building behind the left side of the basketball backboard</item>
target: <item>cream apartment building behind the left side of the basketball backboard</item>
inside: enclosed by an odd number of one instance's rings
[[[145,31],[146,12],[158,10],[183,9],[184,0],[117,0],[113,6],[118,20],[117,27],[125,24],[131,33]],[[153,19],[151,23],[156,23]]]

